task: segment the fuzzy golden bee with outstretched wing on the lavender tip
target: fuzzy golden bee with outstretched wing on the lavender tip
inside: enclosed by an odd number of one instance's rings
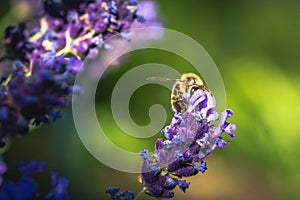
[[[203,80],[194,73],[182,74],[180,79],[162,78],[162,77],[149,77],[147,80],[160,80],[160,81],[175,81],[171,93],[171,106],[177,112],[183,113],[188,109],[189,99],[196,90],[210,90],[204,85]]]

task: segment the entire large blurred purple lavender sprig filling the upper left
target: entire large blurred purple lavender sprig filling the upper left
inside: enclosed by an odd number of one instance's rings
[[[1,60],[12,60],[13,67],[0,66],[0,146],[31,125],[60,118],[71,95],[80,92],[74,79],[83,60],[134,21],[145,22],[139,7],[138,0],[44,0],[37,19],[7,27]]]

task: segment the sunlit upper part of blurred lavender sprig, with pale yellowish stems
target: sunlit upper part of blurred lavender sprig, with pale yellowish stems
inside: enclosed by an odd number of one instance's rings
[[[128,31],[136,19],[142,21],[138,7],[136,0],[45,0],[40,19],[9,26],[4,44],[8,54],[27,68],[47,52],[83,60],[94,48],[103,47],[105,39]]]

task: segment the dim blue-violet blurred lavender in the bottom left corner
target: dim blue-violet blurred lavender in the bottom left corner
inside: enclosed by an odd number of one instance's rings
[[[52,171],[52,190],[47,194],[38,192],[38,183],[33,179],[37,172],[44,172],[46,164],[44,162],[30,161],[27,164],[20,163],[18,170],[22,177],[17,181],[6,180],[2,174],[6,171],[6,165],[0,160],[0,199],[2,200],[25,200],[25,199],[52,199],[68,200],[69,181],[65,177],[59,177],[56,171]],[[3,170],[4,169],[4,170]]]

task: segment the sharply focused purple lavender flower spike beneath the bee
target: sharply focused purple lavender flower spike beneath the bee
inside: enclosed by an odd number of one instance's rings
[[[214,110],[216,101],[210,92],[199,89],[186,98],[187,111],[173,110],[171,124],[162,130],[165,139],[156,141],[155,154],[149,156],[147,150],[140,153],[142,183],[151,196],[172,198],[176,186],[185,192],[190,183],[181,178],[207,170],[204,159],[216,147],[224,148],[228,144],[222,139],[222,133],[235,137],[236,126],[227,122],[233,114],[231,110],[221,114],[218,126],[212,124],[219,115]]]

